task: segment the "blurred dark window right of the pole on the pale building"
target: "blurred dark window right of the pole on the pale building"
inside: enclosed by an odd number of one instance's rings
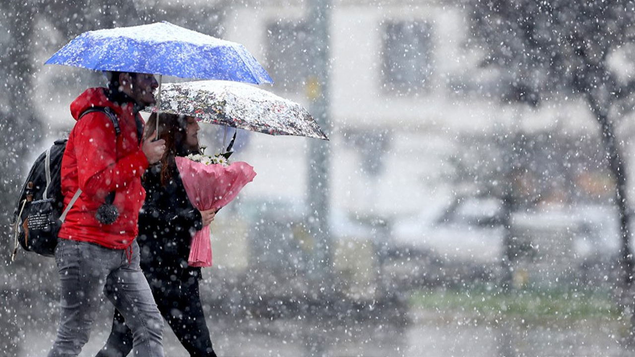
[[[432,27],[424,21],[384,23],[383,88],[399,94],[429,89]]]

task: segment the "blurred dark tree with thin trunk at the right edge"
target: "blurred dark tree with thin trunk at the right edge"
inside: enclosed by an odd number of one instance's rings
[[[615,137],[635,80],[620,76],[610,57],[632,45],[635,3],[626,0],[465,0],[470,43],[483,51],[483,67],[500,69],[501,100],[540,105],[578,97],[598,121],[620,221],[621,307],[632,307],[633,259],[622,147]],[[635,326],[635,315],[631,318]],[[631,334],[632,335],[632,334]]]

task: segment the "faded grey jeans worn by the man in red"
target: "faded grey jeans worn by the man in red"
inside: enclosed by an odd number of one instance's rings
[[[101,293],[133,332],[135,356],[163,357],[163,318],[139,267],[137,240],[127,250],[58,239],[60,327],[48,357],[77,356],[90,337]]]

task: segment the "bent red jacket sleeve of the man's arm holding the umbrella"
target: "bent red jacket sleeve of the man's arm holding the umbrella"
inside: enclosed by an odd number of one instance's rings
[[[141,177],[148,167],[140,147],[117,160],[117,135],[104,113],[86,114],[77,122],[74,131],[79,188],[95,201],[126,187],[133,179]]]

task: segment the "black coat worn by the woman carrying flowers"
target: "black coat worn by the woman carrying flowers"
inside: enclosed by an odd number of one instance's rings
[[[145,276],[150,284],[200,278],[201,268],[188,266],[187,257],[192,235],[203,228],[201,213],[187,198],[177,168],[163,186],[161,165],[150,166],[143,185],[146,196],[139,212],[138,243]]]

